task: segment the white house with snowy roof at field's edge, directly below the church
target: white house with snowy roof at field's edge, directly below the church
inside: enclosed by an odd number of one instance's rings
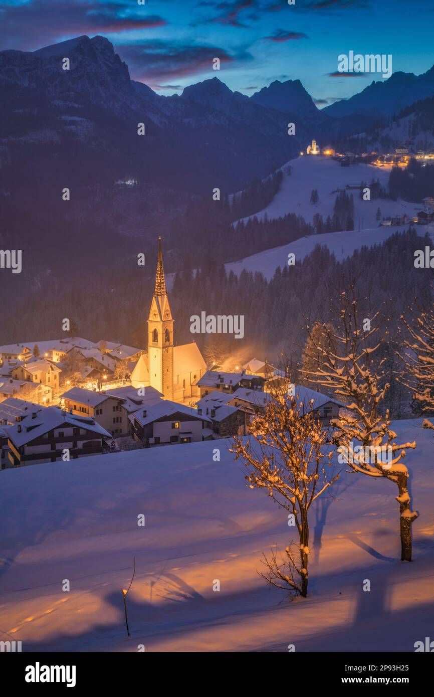
[[[197,443],[212,436],[210,418],[196,409],[161,399],[130,414],[132,436],[140,445]]]

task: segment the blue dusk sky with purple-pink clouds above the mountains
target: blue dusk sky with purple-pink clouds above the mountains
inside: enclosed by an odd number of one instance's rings
[[[7,0],[0,49],[100,34],[133,79],[162,94],[216,76],[248,95],[275,79],[300,79],[322,107],[382,79],[332,77],[338,55],[350,50],[392,54],[393,72],[426,72],[433,23],[432,0]]]

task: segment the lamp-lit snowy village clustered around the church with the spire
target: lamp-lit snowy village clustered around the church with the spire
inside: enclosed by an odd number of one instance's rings
[[[342,408],[266,360],[223,372],[195,342],[177,346],[161,246],[148,351],[68,335],[0,346],[0,361],[2,469],[245,435],[282,383],[326,423]]]

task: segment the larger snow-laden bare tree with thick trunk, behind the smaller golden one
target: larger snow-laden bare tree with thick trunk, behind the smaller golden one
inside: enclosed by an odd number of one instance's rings
[[[401,460],[405,448],[415,448],[416,443],[397,445],[389,411],[381,413],[390,385],[385,380],[385,359],[377,356],[387,328],[380,324],[380,312],[371,318],[363,317],[360,306],[355,282],[351,281],[339,293],[336,304],[332,302],[332,324],[323,322],[324,332],[330,332],[330,341],[316,344],[318,367],[309,370],[307,376],[312,383],[334,392],[347,406],[331,422],[336,429],[334,441],[339,445],[341,461],[348,464],[350,471],[382,477],[398,487],[401,560],[411,561],[411,526],[417,512],[411,510],[408,470]],[[333,350],[332,346],[336,348]]]

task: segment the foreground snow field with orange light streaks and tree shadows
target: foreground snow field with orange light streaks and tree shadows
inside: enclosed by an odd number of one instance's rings
[[[343,473],[316,524],[313,512],[309,598],[289,604],[256,574],[262,551],[288,544],[286,514],[245,487],[229,441],[3,471],[1,639],[23,651],[414,651],[433,636],[434,442],[420,421],[394,428],[418,444],[406,463],[414,561],[399,560],[394,485]]]

